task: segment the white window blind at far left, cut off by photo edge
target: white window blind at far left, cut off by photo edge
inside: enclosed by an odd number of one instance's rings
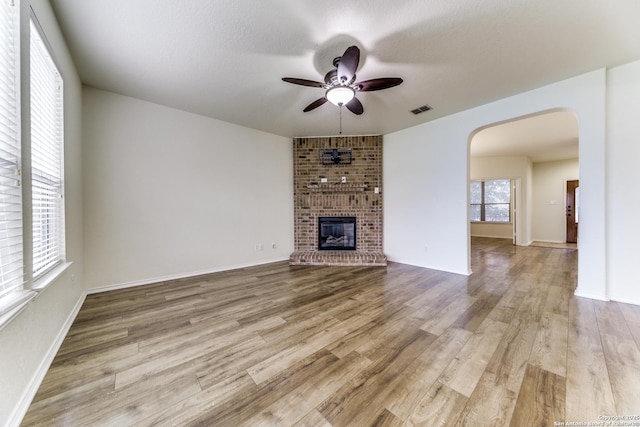
[[[0,299],[13,302],[9,294],[24,282],[17,9],[12,0],[0,0]],[[0,305],[0,314],[12,301]]]

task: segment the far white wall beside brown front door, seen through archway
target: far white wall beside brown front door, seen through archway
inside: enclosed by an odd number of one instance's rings
[[[566,183],[578,178],[578,159],[533,164],[533,240],[566,242]]]

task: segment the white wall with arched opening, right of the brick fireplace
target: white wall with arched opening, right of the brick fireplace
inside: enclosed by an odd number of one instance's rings
[[[385,135],[384,248],[389,259],[469,274],[468,146],[472,134],[516,117],[567,109],[578,117],[584,208],[576,293],[607,299],[605,95],[603,69]]]

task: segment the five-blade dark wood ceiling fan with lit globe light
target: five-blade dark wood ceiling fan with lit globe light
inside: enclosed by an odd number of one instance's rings
[[[388,89],[402,83],[399,77],[382,77],[379,79],[356,82],[356,70],[360,62],[360,49],[357,46],[350,46],[344,51],[342,56],[333,60],[335,69],[329,71],[324,76],[324,83],[313,80],[297,79],[294,77],[283,77],[287,83],[301,86],[318,87],[325,89],[322,98],[318,98],[303,110],[305,113],[323,105],[327,101],[342,107],[343,105],[354,114],[362,114],[364,107],[356,98],[356,92],[372,92],[374,90]]]

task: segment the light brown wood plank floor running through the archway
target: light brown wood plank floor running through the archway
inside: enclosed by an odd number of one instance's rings
[[[283,262],[90,295],[23,425],[554,426],[640,414],[640,307],[574,297],[577,251],[477,238],[472,267]]]

